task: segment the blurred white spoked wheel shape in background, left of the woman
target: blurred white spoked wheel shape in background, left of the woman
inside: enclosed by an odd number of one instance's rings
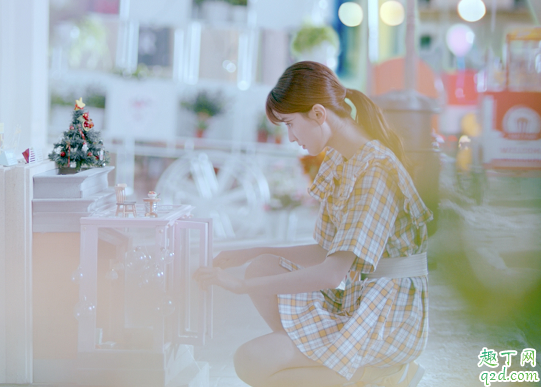
[[[196,218],[212,218],[215,239],[257,235],[264,224],[269,186],[253,155],[191,151],[161,175],[164,204],[191,204]],[[250,220],[250,221],[247,221]]]

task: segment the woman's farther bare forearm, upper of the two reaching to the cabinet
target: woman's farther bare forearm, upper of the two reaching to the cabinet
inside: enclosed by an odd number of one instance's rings
[[[212,265],[222,269],[240,266],[263,254],[278,255],[302,266],[312,266],[325,260],[327,250],[318,244],[289,247],[254,247],[242,250],[229,250],[222,251],[220,254],[218,254],[212,261]]]

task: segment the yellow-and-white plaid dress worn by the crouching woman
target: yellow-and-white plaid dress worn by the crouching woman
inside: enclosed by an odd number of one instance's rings
[[[349,160],[328,148],[309,189],[321,202],[314,237],[356,259],[344,289],[278,295],[282,325],[310,359],[350,379],[362,366],[417,358],[428,333],[427,276],[351,280],[380,259],[426,251],[431,212],[396,156],[377,140]],[[280,264],[302,269],[285,258]]]

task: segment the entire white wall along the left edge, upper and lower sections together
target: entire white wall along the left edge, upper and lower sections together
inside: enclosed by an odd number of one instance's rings
[[[49,0],[0,1],[0,122],[8,144],[20,125],[18,152],[45,147],[48,35]],[[30,200],[36,166],[0,167],[0,383],[32,382]]]

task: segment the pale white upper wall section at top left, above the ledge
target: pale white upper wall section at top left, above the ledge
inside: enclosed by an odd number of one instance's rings
[[[0,122],[18,150],[44,148],[48,122],[49,0],[0,1]]]

